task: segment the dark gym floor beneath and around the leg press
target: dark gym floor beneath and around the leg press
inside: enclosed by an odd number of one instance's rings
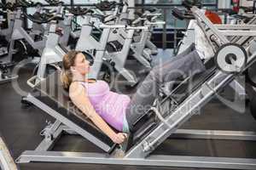
[[[159,54],[161,59],[170,57],[164,51]],[[160,58],[156,58],[160,59]],[[134,66],[134,65],[133,65]],[[26,80],[31,77],[34,65],[26,65],[19,72],[18,84],[23,91],[29,92]],[[43,139],[39,133],[45,127],[46,120],[54,122],[44,111],[35,106],[24,107],[20,103],[21,96],[16,93],[12,83],[0,85],[0,133],[5,139],[9,150],[16,159],[24,150],[34,150]],[[125,91],[124,93],[128,93]],[[229,97],[230,93],[224,93]],[[200,115],[193,116],[182,128],[209,130],[237,130],[256,132],[256,121],[250,111],[238,113],[223,105],[218,99],[212,101],[201,110]],[[94,144],[80,136],[61,137],[54,150],[102,152]],[[256,142],[202,139],[169,139],[154,151],[157,154],[172,156],[220,156],[256,158]],[[20,164],[20,170],[84,170],[84,169],[184,169],[177,167],[137,167],[109,166],[94,164],[70,163],[27,163]],[[189,169],[189,168],[185,168]],[[194,169],[194,168],[193,168]],[[205,169],[205,168],[201,168]]]

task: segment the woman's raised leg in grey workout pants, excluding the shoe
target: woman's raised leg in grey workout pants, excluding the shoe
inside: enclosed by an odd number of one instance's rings
[[[129,127],[132,129],[133,122],[136,122],[153,105],[154,99],[160,94],[160,87],[165,82],[175,81],[178,77],[195,75],[201,71],[205,71],[205,66],[195,50],[154,67],[137,89],[137,93],[133,95],[126,110]]]

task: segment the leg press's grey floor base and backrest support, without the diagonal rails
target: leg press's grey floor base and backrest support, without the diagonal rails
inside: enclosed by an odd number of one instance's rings
[[[44,140],[38,144],[36,150],[26,150],[16,160],[18,163],[32,161],[47,162],[72,162],[72,163],[96,163],[96,164],[119,164],[119,165],[142,165],[142,166],[165,166],[165,167],[209,167],[209,168],[230,168],[230,169],[255,169],[256,160],[243,158],[209,157],[209,156],[161,156],[150,155],[147,158],[117,158],[115,156],[101,153],[82,153],[70,151],[49,151],[51,150],[63,133],[81,134],[85,139],[93,142],[102,150],[109,150],[109,147],[101,141],[84,132],[75,123],[61,116],[45,105],[40,100],[29,95],[27,99],[40,109],[46,111],[50,116],[56,118],[53,124],[44,128]],[[177,129],[172,135],[178,139],[225,139],[225,140],[247,140],[256,141],[256,133],[244,131],[222,131],[222,130],[192,130]]]

